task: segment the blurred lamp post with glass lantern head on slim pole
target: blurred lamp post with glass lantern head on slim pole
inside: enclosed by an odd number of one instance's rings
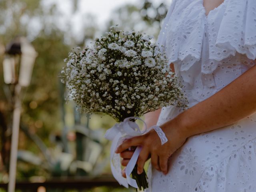
[[[6,84],[14,85],[14,109],[12,117],[12,140],[8,192],[15,191],[16,183],[18,136],[21,112],[20,91],[22,87],[27,87],[30,84],[36,56],[36,50],[24,37],[17,37],[6,46],[3,61],[4,82]]]

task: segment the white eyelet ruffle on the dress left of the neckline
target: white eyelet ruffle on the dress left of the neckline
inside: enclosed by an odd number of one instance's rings
[[[200,59],[203,16],[199,1],[172,1],[157,41],[165,47],[169,62],[183,60],[189,54]]]

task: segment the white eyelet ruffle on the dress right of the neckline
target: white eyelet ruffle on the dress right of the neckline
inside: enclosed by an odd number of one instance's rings
[[[256,1],[226,0],[222,14],[210,18],[210,58],[222,60],[236,52],[256,59]]]

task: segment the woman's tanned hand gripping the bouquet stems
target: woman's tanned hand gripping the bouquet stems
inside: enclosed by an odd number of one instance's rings
[[[161,145],[161,140],[155,130],[151,130],[145,135],[126,140],[116,150],[116,153],[121,153],[131,146],[142,146],[142,150],[137,161],[138,174],[142,173],[144,164],[149,155],[151,155],[152,166],[156,170],[167,174],[168,158],[186,141],[187,136],[185,136],[182,128],[175,121],[175,119],[168,122],[168,125],[163,124],[160,127],[168,138],[168,142],[166,142],[164,145]],[[126,162],[127,161],[124,161],[124,163]]]

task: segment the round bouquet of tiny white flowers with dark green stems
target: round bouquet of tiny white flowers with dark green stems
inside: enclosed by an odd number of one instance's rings
[[[104,113],[123,122],[164,106],[184,107],[181,84],[166,55],[140,32],[110,27],[92,47],[77,48],[65,59],[62,80],[81,112]],[[133,171],[140,189],[146,174]]]

